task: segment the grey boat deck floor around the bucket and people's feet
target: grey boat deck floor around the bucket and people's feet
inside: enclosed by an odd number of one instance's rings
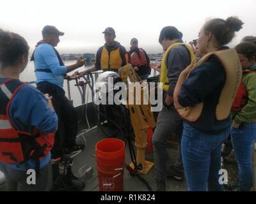
[[[81,108],[81,107],[80,107]],[[82,111],[77,108],[77,113],[81,113]],[[86,140],[86,147],[83,151],[81,151],[77,156],[74,157],[74,162],[72,164],[72,173],[79,177],[79,170],[81,168],[86,169],[92,166],[93,173],[89,173],[84,177],[84,182],[86,184],[83,191],[99,191],[99,181],[97,177],[97,168],[96,168],[96,156],[95,156],[95,145],[100,140],[106,138],[104,134],[102,133],[102,129],[96,126],[95,122],[95,112],[92,110],[92,108],[88,108],[88,115],[90,116],[90,120],[92,123],[90,124],[91,127],[94,126],[94,128],[91,129],[91,131],[88,131],[83,136],[79,136],[77,138],[77,142],[83,142],[83,137]],[[88,129],[83,114],[80,115],[80,122],[79,122],[79,132],[83,131],[84,129]],[[108,129],[104,128],[104,133],[108,132]],[[121,135],[120,133],[116,133],[116,135]],[[170,164],[173,164],[175,161],[175,156],[177,154],[177,151],[175,148],[175,142],[171,142],[172,145],[168,145],[168,155],[169,155],[169,161],[166,161],[167,166],[170,166]],[[174,146],[173,146],[174,144]],[[128,145],[127,145],[128,146]],[[135,149],[135,148],[134,148]],[[146,160],[154,162],[154,154],[146,154]],[[129,154],[129,148],[126,147],[125,150],[125,163],[129,164],[131,163],[130,154]],[[234,182],[237,179],[237,165],[236,164],[227,164],[223,163],[222,168],[225,168],[228,170],[228,182]],[[1,173],[1,172],[0,172]],[[141,177],[145,180],[147,180],[148,184],[153,190],[156,190],[155,186],[155,180],[154,180],[154,166],[153,168],[148,171],[147,174],[143,175],[140,174]],[[166,188],[167,191],[186,191],[186,180],[177,181],[175,179],[168,178],[166,180]],[[0,183],[0,191],[5,190],[5,184]],[[143,182],[141,182],[138,177],[133,177],[130,175],[129,171],[127,169],[124,170],[124,191],[148,191],[148,188]]]

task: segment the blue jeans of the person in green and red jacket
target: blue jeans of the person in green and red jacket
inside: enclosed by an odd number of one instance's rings
[[[238,164],[239,188],[250,191],[253,186],[251,157],[256,140],[256,122],[244,123],[239,129],[232,127],[230,134]]]

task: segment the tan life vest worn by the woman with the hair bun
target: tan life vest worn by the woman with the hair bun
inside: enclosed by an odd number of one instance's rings
[[[191,69],[196,69],[198,66],[203,64],[211,56],[215,55],[223,64],[226,73],[226,82],[221,91],[219,103],[216,106],[216,119],[224,120],[227,119],[233,100],[236,96],[237,89],[242,78],[242,68],[235,49],[221,50],[217,52],[211,52],[206,54],[195,66]],[[189,77],[189,75],[188,75]],[[187,78],[188,78],[187,77]],[[211,82],[209,82],[211,83]],[[195,122],[201,115],[204,102],[198,103],[193,107],[186,107],[177,110],[180,116],[189,122]]]

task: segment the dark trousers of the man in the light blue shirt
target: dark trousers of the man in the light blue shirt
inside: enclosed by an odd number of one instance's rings
[[[52,96],[52,105],[54,106],[54,110],[57,113],[58,119],[59,119],[58,120],[59,129],[56,132],[55,144],[58,143],[58,139],[59,140],[64,139],[65,147],[71,147],[73,145],[76,145],[77,123],[78,123],[77,114],[74,106],[65,96],[65,91],[61,89],[61,87],[59,87],[58,85],[55,85],[46,81],[40,82],[36,86],[40,92],[44,94],[49,94],[50,96]],[[60,131],[61,127],[64,128],[65,135],[62,135],[63,131]],[[60,134],[60,132],[62,132],[62,134]]]

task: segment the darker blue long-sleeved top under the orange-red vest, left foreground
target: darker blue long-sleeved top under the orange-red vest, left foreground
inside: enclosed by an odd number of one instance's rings
[[[8,78],[0,78],[0,83]],[[42,133],[53,133],[58,128],[58,117],[56,113],[47,106],[44,94],[31,85],[21,87],[13,98],[9,108],[10,119],[15,129],[20,131],[31,131],[34,126]],[[40,168],[44,168],[51,160],[51,153],[40,161]],[[26,171],[35,169],[35,160],[29,160],[20,166],[7,164],[10,168]]]

